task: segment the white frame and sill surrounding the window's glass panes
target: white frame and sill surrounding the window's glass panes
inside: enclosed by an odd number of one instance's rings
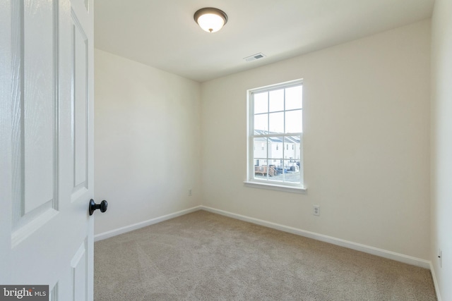
[[[282,88],[289,88],[294,87],[297,85],[303,85],[303,80],[292,80],[290,82],[281,82],[276,85],[269,85],[265,87],[259,87],[256,89],[251,89],[246,91],[246,105],[247,105],[247,124],[246,124],[246,137],[247,137],[247,154],[246,154],[246,161],[247,161],[247,168],[246,168],[246,180],[244,181],[244,184],[246,186],[252,187],[252,188],[264,188],[264,189],[270,189],[270,190],[281,190],[286,192],[297,192],[297,193],[305,193],[307,189],[304,186],[304,159],[303,159],[303,133],[284,133],[284,134],[277,134],[278,137],[285,137],[285,136],[298,136],[300,139],[300,166],[299,166],[299,172],[300,172],[300,183],[290,183],[290,182],[280,182],[280,181],[273,181],[273,180],[261,180],[254,177],[254,99],[253,94],[259,93],[259,92],[270,92],[273,90],[280,90]],[[284,108],[285,111],[285,108]],[[302,112],[303,112],[303,106],[302,106]],[[275,134],[268,134],[268,135],[258,135],[258,137],[275,137]],[[283,147],[283,145],[282,145]],[[267,148],[268,149],[268,148]],[[283,152],[285,152],[285,147],[283,147]],[[283,156],[284,157],[284,156]],[[268,158],[267,155],[267,161],[271,160],[271,158]]]

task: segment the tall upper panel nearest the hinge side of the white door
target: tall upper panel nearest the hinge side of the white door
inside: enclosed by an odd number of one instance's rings
[[[35,4],[11,2],[13,247],[59,207],[59,4]]]

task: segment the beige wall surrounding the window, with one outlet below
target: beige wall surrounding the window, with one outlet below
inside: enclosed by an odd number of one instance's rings
[[[203,82],[203,204],[429,259],[430,37],[424,20]],[[244,187],[246,90],[299,78],[307,194]]]

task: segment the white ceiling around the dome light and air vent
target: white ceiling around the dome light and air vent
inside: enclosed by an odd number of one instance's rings
[[[95,47],[199,82],[432,16],[434,0],[94,0]],[[195,11],[229,20],[204,32]],[[247,63],[246,56],[267,57]]]

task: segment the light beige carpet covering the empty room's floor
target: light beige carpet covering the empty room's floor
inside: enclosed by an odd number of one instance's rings
[[[196,211],[95,242],[95,300],[436,300],[427,269]]]

